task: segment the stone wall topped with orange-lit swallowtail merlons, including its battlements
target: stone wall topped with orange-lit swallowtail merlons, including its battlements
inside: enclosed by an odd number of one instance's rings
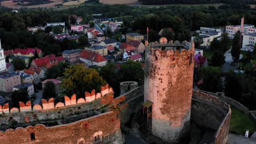
[[[10,110],[10,113],[8,104],[5,104],[3,108],[0,107],[0,110],[2,110],[0,124],[10,124],[13,121],[17,123],[48,121],[71,116],[75,113],[97,110],[111,104],[114,98],[113,94],[113,89],[108,88],[108,85],[106,85],[106,87],[101,88],[101,93],[95,94],[95,91],[91,93],[85,92],[85,99],[76,100],[75,95],[71,99],[65,97],[65,104],[57,103],[54,105],[53,99],[49,101],[43,99],[42,106],[34,105],[32,109],[30,101],[28,101],[26,105],[20,103],[20,110],[14,107]]]

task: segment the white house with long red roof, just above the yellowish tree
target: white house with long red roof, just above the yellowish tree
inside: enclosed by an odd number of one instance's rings
[[[86,50],[81,52],[80,61],[86,63],[88,66],[97,65],[99,67],[103,67],[108,63],[107,59],[100,54]]]

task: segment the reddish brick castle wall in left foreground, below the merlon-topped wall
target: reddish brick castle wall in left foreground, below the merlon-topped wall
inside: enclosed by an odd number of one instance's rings
[[[34,133],[35,140],[31,140]],[[123,143],[120,131],[120,119],[114,112],[82,119],[80,121],[45,127],[43,124],[26,128],[0,131],[0,141],[5,144],[13,143],[96,143],[95,136],[99,135],[103,143]]]

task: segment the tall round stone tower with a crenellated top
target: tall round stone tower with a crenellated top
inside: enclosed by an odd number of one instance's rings
[[[152,134],[167,143],[179,142],[189,131],[194,51],[193,43],[166,38],[146,48],[144,104],[151,105]]]

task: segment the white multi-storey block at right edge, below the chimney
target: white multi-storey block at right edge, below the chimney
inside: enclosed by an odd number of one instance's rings
[[[243,35],[242,50],[253,51],[254,44],[256,44],[256,33]]]

